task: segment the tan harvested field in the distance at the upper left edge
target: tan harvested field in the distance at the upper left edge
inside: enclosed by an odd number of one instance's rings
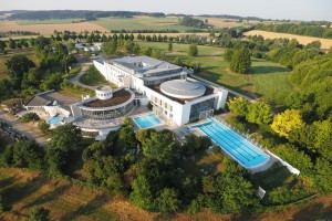
[[[82,23],[69,23],[69,24],[29,24],[29,25],[19,25],[13,21],[0,22],[0,32],[7,31],[32,31],[39,32],[40,34],[52,34],[53,31],[95,31],[106,32],[108,30],[104,29],[94,23],[82,22]]]

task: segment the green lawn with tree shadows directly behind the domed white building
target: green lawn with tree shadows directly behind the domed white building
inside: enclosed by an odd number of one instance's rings
[[[139,44],[167,51],[166,43],[139,42]],[[198,76],[249,96],[281,102],[292,91],[292,85],[288,81],[290,71],[279,64],[252,60],[252,74],[237,74],[232,73],[229,70],[229,63],[224,61],[222,49],[198,46],[199,55],[191,57],[187,55],[188,48],[188,44],[173,44],[173,52],[167,52],[167,57],[174,60],[179,56],[180,60],[198,62],[203,67]]]

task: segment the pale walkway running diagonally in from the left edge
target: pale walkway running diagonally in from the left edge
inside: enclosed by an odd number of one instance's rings
[[[48,144],[48,137],[32,126],[31,123],[20,123],[14,116],[2,110],[0,110],[0,119],[13,128],[18,134],[24,135],[29,139],[34,139],[40,146],[45,146]]]

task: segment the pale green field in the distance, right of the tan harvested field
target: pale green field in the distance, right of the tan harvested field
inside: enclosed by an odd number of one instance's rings
[[[92,21],[107,30],[177,30],[179,32],[186,32],[193,30],[193,27],[178,25],[178,19],[176,17],[134,17],[134,18],[101,18],[96,21]]]

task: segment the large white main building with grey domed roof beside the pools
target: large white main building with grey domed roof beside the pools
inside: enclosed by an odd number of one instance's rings
[[[94,61],[94,65],[107,81],[143,95],[136,105],[151,102],[158,116],[178,126],[200,119],[226,105],[227,90],[189,78],[188,70],[168,62],[128,56]]]

